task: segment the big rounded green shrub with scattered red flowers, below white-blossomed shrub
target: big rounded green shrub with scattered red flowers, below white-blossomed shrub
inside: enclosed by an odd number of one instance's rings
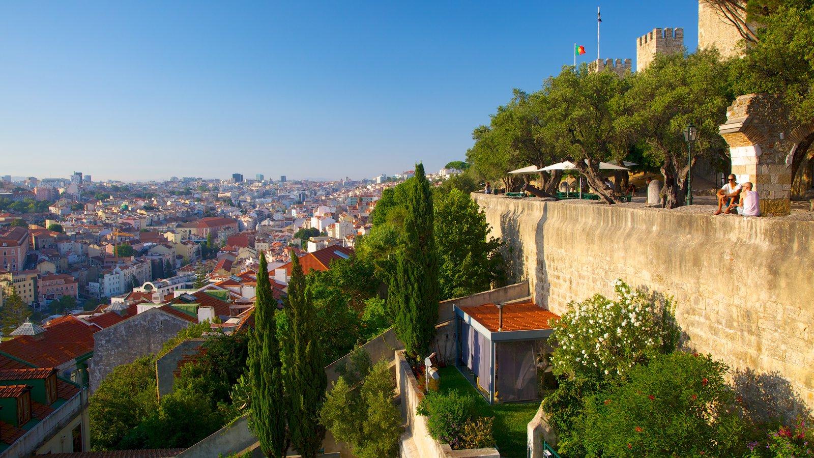
[[[659,355],[625,383],[585,399],[584,456],[743,456],[747,430],[727,366],[708,355]]]

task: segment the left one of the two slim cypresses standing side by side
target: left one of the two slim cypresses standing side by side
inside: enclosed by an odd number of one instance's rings
[[[263,275],[265,272],[265,275]],[[252,429],[267,456],[282,458],[286,440],[286,404],[283,394],[280,344],[274,301],[265,257],[260,257],[257,272],[255,328],[249,340],[249,379],[252,384]],[[324,373],[324,371],[323,371]]]

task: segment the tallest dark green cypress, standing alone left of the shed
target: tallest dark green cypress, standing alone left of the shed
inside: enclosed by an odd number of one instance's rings
[[[403,246],[396,253],[388,302],[396,335],[408,355],[427,356],[438,321],[438,254],[433,235],[430,182],[424,165],[415,166],[407,191]]]

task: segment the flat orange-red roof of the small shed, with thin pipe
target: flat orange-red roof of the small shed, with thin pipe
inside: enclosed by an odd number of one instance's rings
[[[460,307],[466,315],[483,324],[491,332],[497,332],[500,317],[497,306],[486,304],[484,306]],[[549,320],[559,319],[559,315],[536,306],[534,302],[522,304],[506,304],[503,306],[504,331],[530,331],[532,329],[550,329]]]

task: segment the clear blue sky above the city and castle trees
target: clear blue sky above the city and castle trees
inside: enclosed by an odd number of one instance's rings
[[[596,57],[597,2],[288,3],[0,3],[0,174],[438,170],[574,42]],[[603,59],[655,27],[698,44],[695,0],[598,4]]]

